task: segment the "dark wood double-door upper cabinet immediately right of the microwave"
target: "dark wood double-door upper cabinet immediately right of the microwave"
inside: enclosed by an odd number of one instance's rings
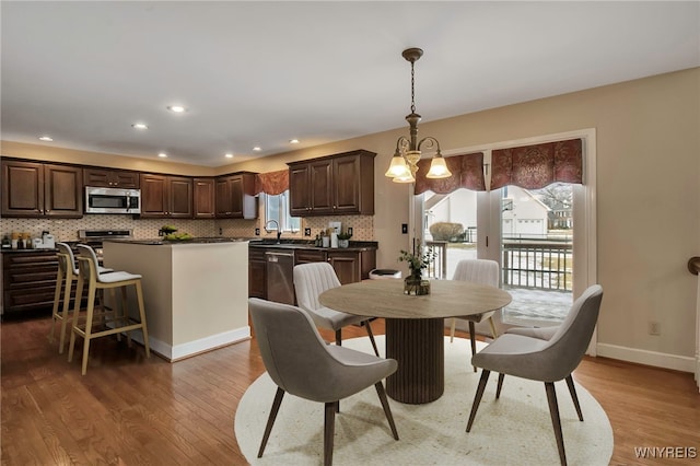
[[[141,218],[191,219],[192,179],[141,174]]]

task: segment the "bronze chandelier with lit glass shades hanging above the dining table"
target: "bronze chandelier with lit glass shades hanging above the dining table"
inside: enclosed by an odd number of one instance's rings
[[[416,173],[418,172],[418,161],[421,155],[421,148],[428,150],[435,148],[435,155],[430,163],[430,170],[425,174],[428,178],[446,178],[452,176],[445,159],[440,153],[440,142],[431,136],[428,136],[418,141],[418,121],[420,121],[420,115],[416,113],[416,93],[415,86],[415,72],[413,63],[423,56],[423,50],[420,48],[407,48],[401,53],[401,56],[411,63],[411,113],[406,115],[406,121],[410,127],[410,139],[401,136],[396,141],[396,152],[392,158],[392,164],[386,171],[385,176],[394,178],[394,183],[413,183],[416,182]]]

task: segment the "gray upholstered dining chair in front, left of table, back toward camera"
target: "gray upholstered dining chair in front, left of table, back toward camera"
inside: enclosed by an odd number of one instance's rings
[[[383,378],[396,372],[396,360],[326,343],[310,315],[296,306],[257,298],[248,299],[248,305],[262,362],[278,387],[258,458],[262,457],[284,393],[325,404],[325,465],[332,463],[339,400],[372,385],[380,397],[392,434],[398,440],[382,384]]]

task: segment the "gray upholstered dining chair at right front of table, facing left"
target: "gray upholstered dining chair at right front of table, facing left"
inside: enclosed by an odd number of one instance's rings
[[[495,392],[497,398],[501,394],[503,377],[514,375],[517,377],[540,381],[545,383],[549,412],[551,416],[555,436],[557,438],[557,448],[559,459],[562,465],[567,464],[564,453],[564,441],[561,432],[561,420],[559,417],[559,406],[557,404],[557,393],[555,382],[567,380],[569,392],[573,398],[579,420],[583,421],[581,406],[576,396],[571,373],[583,359],[583,354],[591,341],[595,324],[600,311],[603,300],[603,288],[599,284],[588,287],[583,294],[574,301],[569,315],[562,324],[556,327],[553,335],[549,339],[534,336],[517,335],[506,333],[497,338],[492,343],[479,351],[471,363],[481,368],[481,378],[474,397],[474,405],[467,422],[467,432],[471,430],[474,419],[483,395],[487,381],[491,371],[499,373],[499,383]],[[540,333],[547,336],[552,330]],[[537,333],[534,333],[537,334]]]

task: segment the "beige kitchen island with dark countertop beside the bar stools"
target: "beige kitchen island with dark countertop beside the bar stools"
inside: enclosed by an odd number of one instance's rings
[[[105,267],[143,277],[151,350],[168,361],[250,338],[247,241],[105,241],[103,247]],[[129,295],[132,313],[135,299]]]

